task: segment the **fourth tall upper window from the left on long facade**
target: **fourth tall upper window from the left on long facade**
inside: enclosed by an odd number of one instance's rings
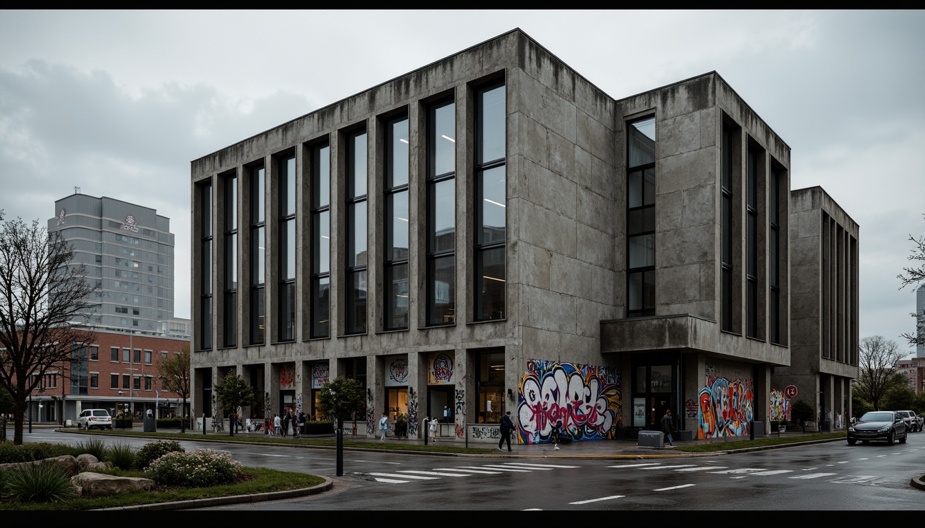
[[[277,160],[279,178],[278,332],[280,341],[295,339],[295,156]]]

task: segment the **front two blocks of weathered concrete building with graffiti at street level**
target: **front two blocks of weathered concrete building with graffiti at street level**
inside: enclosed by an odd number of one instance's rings
[[[194,160],[191,184],[196,415],[228,374],[257,418],[317,415],[351,377],[358,435],[387,412],[494,442],[512,411],[518,442],[597,440],[672,409],[748,436],[784,389],[790,147],[716,72],[614,99],[514,30]]]

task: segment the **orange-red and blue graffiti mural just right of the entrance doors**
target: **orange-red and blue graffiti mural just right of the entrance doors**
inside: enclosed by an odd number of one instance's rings
[[[753,418],[752,380],[707,376],[697,398],[697,438],[748,436]]]

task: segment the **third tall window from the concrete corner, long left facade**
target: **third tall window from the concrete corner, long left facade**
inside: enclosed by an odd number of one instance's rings
[[[408,117],[385,126],[385,329],[408,327]]]

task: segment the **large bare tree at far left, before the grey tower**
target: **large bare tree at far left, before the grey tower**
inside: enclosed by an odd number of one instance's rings
[[[73,249],[58,233],[20,218],[0,228],[0,387],[14,402],[13,443],[22,426],[31,391],[49,369],[67,364],[71,351],[95,339],[78,329],[93,303],[94,288]]]

